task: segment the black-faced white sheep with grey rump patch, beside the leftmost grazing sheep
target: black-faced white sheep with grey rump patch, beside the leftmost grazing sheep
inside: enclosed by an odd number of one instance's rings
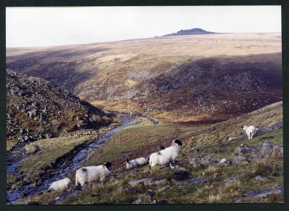
[[[112,163],[106,162],[103,165],[82,167],[76,171],[75,185],[83,187],[87,182],[100,181],[103,184],[108,181],[112,173]]]

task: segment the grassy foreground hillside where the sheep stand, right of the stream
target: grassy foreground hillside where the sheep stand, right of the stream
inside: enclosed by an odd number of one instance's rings
[[[168,203],[232,203],[235,199],[242,198],[249,191],[255,191],[278,185],[283,187],[283,156],[279,151],[274,151],[266,159],[254,159],[263,141],[272,144],[283,145],[283,130],[277,129],[256,135],[251,140],[241,141],[240,138],[231,142],[226,139],[228,135],[238,137],[243,135],[240,127],[253,124],[255,126],[271,126],[282,121],[282,102],[274,103],[265,108],[245,114],[238,118],[232,118],[222,123],[212,125],[151,125],[146,119],[142,125],[131,126],[118,131],[108,142],[99,149],[93,150],[87,157],[83,166],[98,165],[105,161],[113,163],[114,174],[107,184],[86,187],[77,193],[70,195],[74,190],[68,191],[62,204],[131,204],[136,199],[139,203],[151,203],[153,200],[165,199]],[[190,137],[195,135],[192,140]],[[170,167],[155,167],[151,174],[149,166],[138,169],[126,170],[125,159],[136,157],[149,157],[152,152],[159,150],[159,145],[168,147],[171,140],[178,138],[183,142],[176,163],[182,169]],[[220,140],[216,142],[216,140]],[[199,151],[191,148],[197,144],[203,144]],[[243,145],[242,145],[243,144]],[[255,151],[242,151],[242,148],[256,149]],[[259,147],[259,148],[258,148]],[[203,158],[210,161],[229,159],[230,165],[208,165],[205,160],[198,157],[208,153]],[[235,157],[244,156],[243,161],[234,163]],[[254,157],[255,156],[255,157]],[[195,159],[199,166],[194,167],[190,162]],[[218,160],[219,159],[219,160]],[[202,163],[203,162],[203,163]],[[233,163],[232,163],[233,162]],[[178,182],[184,179],[207,177],[208,180],[200,184],[181,186]],[[235,176],[236,181],[227,181]],[[266,177],[265,182],[255,180],[256,176]],[[68,175],[74,182],[75,172]],[[131,186],[128,180],[143,178],[164,178],[165,182],[154,185]],[[202,180],[202,179],[201,179]],[[150,200],[147,191],[155,191]],[[71,192],[72,191],[72,192]],[[273,193],[273,192],[272,192]],[[274,192],[275,193],[275,192]],[[55,203],[54,199],[61,193],[44,193],[20,200],[18,203],[46,204]],[[61,195],[62,196],[62,195]],[[71,196],[71,197],[69,197]],[[247,197],[240,199],[241,203],[251,202],[283,202],[283,194],[270,194],[263,198]]]

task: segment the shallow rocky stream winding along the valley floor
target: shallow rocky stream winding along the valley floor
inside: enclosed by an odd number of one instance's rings
[[[101,145],[101,143],[103,143],[104,141],[107,141],[110,139],[110,137],[112,137],[113,133],[132,126],[132,125],[137,125],[138,123],[133,123],[133,120],[137,117],[137,115],[132,115],[132,116],[122,116],[122,125],[119,127],[116,127],[110,131],[107,131],[106,133],[99,135],[99,137],[92,141],[88,146],[86,146],[84,149],[80,150],[74,157],[73,159],[71,159],[68,163],[65,163],[66,165],[64,165],[63,163],[60,165],[60,167],[58,167],[57,169],[57,173],[55,175],[53,175],[51,178],[45,179],[41,185],[39,186],[35,186],[33,187],[33,183],[24,185],[21,188],[21,191],[15,189],[13,190],[12,193],[10,193],[10,190],[7,190],[7,202],[10,201],[14,201],[17,199],[22,198],[21,196],[21,192],[25,191],[26,194],[23,195],[23,197],[26,196],[31,196],[34,195],[36,193],[40,193],[42,190],[45,190],[47,188],[47,186],[49,186],[52,182],[54,181],[58,181],[61,180],[63,178],[65,178],[70,172],[73,172],[75,170],[77,170],[79,168],[79,166],[81,166],[82,163],[84,163],[84,161],[86,160],[86,156],[95,148],[99,148],[99,146]],[[142,117],[146,117],[143,116]],[[154,124],[154,125],[158,125],[158,123],[153,120],[152,118],[149,118],[149,120]],[[14,172],[15,171],[15,167],[18,165],[18,163],[20,163],[23,159],[25,159],[25,157],[29,157],[29,156],[33,156],[33,155],[26,155],[25,154],[25,143],[21,143],[18,145],[17,148],[14,148],[13,150],[11,150],[8,153],[8,160],[9,160],[9,164],[11,163],[11,165],[7,166],[7,173],[8,172]],[[38,154],[40,152],[40,150],[37,150],[36,154]],[[68,165],[67,165],[68,164]]]

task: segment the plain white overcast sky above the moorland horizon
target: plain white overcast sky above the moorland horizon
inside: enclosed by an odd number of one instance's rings
[[[6,47],[137,39],[192,28],[281,32],[281,6],[6,7]]]

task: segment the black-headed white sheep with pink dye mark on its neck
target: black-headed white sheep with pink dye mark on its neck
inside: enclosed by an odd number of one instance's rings
[[[183,145],[183,143],[176,139],[173,140],[170,147],[151,154],[149,157],[149,173],[151,173],[152,167],[155,167],[156,165],[165,165],[172,160],[175,160],[179,154],[179,145]]]

